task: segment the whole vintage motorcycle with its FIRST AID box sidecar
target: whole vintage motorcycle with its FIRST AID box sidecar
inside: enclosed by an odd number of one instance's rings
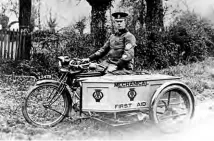
[[[173,131],[194,115],[194,95],[179,77],[143,72],[106,75],[107,67],[100,64],[58,59],[61,77],[38,80],[23,104],[23,116],[34,126],[52,127],[69,117],[111,126],[149,120]]]

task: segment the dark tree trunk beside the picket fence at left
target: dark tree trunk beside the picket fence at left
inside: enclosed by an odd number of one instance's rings
[[[31,0],[19,0],[19,31],[30,32],[30,19],[31,19]],[[21,39],[21,38],[20,38]],[[24,47],[24,54],[20,59],[30,59],[31,50],[31,36],[25,34],[25,41],[20,41],[21,47]]]

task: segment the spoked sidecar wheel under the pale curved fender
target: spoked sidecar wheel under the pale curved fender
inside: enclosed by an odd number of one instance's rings
[[[180,98],[177,97],[177,95],[180,96]],[[171,103],[169,98],[172,98]],[[167,102],[165,101],[166,99]],[[186,107],[186,112],[184,112],[184,107],[182,108],[181,104],[184,104],[183,106]],[[179,107],[180,113],[175,111],[175,109],[178,110]],[[181,117],[183,114],[184,117],[182,119]],[[157,96],[153,107],[150,109],[150,119],[164,133],[175,133],[181,131],[181,129],[185,129],[184,127],[188,125],[190,119],[193,117],[193,114],[194,103],[192,96],[184,87],[180,85],[171,85],[164,88]],[[179,118],[181,119],[179,120]],[[164,120],[162,121],[162,119]]]

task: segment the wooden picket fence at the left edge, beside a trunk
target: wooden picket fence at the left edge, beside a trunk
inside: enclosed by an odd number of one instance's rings
[[[0,30],[0,60],[19,60],[25,55],[25,32],[18,30]],[[22,45],[21,45],[21,42]]]

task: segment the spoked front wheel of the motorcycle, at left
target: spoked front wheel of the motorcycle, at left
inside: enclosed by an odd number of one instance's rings
[[[50,92],[55,92],[58,86],[57,84],[48,83],[31,89],[22,106],[23,116],[28,123],[37,127],[47,128],[55,126],[65,118],[69,110],[69,98],[65,90],[51,105],[51,108],[55,111],[44,106],[45,102],[47,103],[47,100],[50,99]]]

